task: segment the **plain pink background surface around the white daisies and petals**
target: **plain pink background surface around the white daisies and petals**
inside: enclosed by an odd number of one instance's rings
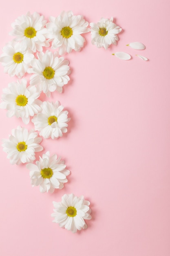
[[[50,101],[59,100],[69,111],[68,133],[42,141],[43,153],[50,150],[62,156],[71,171],[64,189],[42,194],[39,187],[32,188],[26,166],[11,165],[0,147],[0,254],[169,256],[170,2],[4,1],[0,49],[13,38],[8,33],[18,16],[38,11],[47,19],[62,10],[82,14],[88,22],[113,16],[123,31],[118,45],[108,50],[92,45],[88,33],[81,52],[65,55],[71,81]],[[134,41],[146,49],[126,46]],[[119,51],[132,59],[112,55]],[[0,65],[0,94],[16,80],[3,70]],[[7,118],[6,110],[1,109],[0,116],[1,139],[18,125],[25,126],[22,120]],[[91,202],[88,229],[72,234],[52,222],[52,202],[64,193],[84,195]]]

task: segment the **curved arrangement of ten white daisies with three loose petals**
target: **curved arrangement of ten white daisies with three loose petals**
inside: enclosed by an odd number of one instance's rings
[[[7,110],[7,117],[21,118],[25,125],[31,121],[34,130],[21,126],[12,129],[9,139],[3,139],[2,147],[11,164],[26,164],[32,186],[39,186],[42,193],[53,193],[55,189],[64,188],[70,171],[61,157],[57,158],[49,151],[34,163],[35,153],[43,150],[39,136],[43,139],[62,137],[71,118],[59,101],[42,101],[39,97],[42,93],[46,97],[54,91],[62,93],[71,74],[69,61],[62,55],[82,49],[85,42],[82,34],[91,32],[92,44],[108,49],[110,45],[117,45],[121,27],[113,22],[113,18],[101,18],[97,23],[88,24],[82,15],[73,15],[72,11],[63,11],[57,17],[50,16],[49,22],[37,12],[28,12],[11,26],[10,34],[14,38],[2,48],[0,62],[4,72],[17,76],[18,81],[3,89],[0,108]],[[145,48],[138,42],[128,46],[137,50]],[[57,50],[53,52],[51,49]],[[113,55],[124,60],[131,58],[124,52]],[[87,228],[84,220],[91,219],[91,209],[84,196],[65,194],[61,202],[53,202],[53,205],[53,222],[59,223],[60,227],[73,233]]]

